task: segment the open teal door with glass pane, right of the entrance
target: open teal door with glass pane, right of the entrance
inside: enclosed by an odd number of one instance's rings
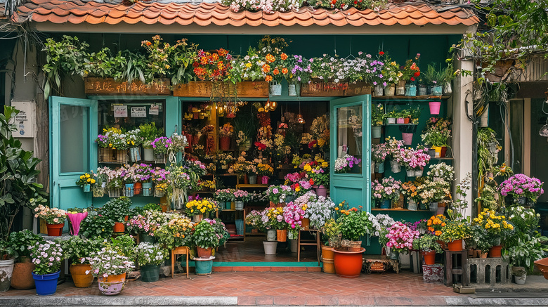
[[[371,210],[371,96],[331,100],[330,103],[330,195],[335,203],[346,200],[351,207]],[[346,174],[335,173],[337,158],[361,159]]]

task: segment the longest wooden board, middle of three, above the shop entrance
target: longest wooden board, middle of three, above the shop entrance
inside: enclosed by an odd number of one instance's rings
[[[178,84],[173,90],[173,96],[178,97],[211,97],[215,90],[216,97],[234,97],[234,86],[236,95],[241,98],[268,98],[268,82],[266,81],[243,81],[235,85],[229,82],[221,82],[215,85],[210,81],[190,81],[188,84]]]

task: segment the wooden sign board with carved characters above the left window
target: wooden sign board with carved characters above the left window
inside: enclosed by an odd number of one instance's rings
[[[115,81],[112,78],[88,77],[84,79],[86,94],[119,95],[171,95],[169,79],[157,79],[151,84],[143,84],[141,81]]]

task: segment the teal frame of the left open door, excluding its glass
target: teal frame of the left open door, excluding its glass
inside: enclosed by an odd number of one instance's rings
[[[97,169],[97,145],[92,140],[95,140],[97,127],[97,100],[83,99],[83,98],[65,98],[58,96],[51,96],[49,98],[50,112],[49,112],[49,144],[50,144],[50,206],[60,209],[67,209],[70,207],[89,207],[91,205],[91,193],[84,193],[82,189],[76,185],[76,181],[81,174],[90,171],[91,169]],[[82,122],[82,129],[84,133],[87,131],[89,145],[84,144],[83,153],[81,159],[83,159],[83,169],[72,172],[61,172],[61,122],[65,119],[65,114],[61,110],[62,105],[78,106],[84,108],[84,122]],[[92,133],[93,131],[93,133]],[[67,133],[68,131],[63,131]],[[76,138],[83,138],[83,142],[86,141],[86,136],[76,136]],[[74,144],[78,146],[78,144]]]

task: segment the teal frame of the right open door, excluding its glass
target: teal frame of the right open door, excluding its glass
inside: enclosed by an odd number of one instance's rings
[[[336,174],[334,161],[338,157],[337,110],[341,107],[362,107],[362,173]],[[363,206],[371,211],[371,96],[354,96],[331,100],[330,103],[330,194],[335,203],[346,200],[351,207]]]

